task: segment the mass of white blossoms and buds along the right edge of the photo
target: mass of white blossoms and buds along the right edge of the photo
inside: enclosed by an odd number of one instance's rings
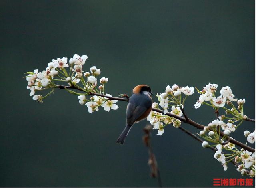
[[[234,94],[232,94],[229,86],[222,87],[220,90],[221,95],[216,98],[217,87],[217,84],[209,83],[202,91],[198,91],[200,97],[195,104],[195,108],[199,108],[201,104],[206,104],[214,108],[216,113],[219,113],[219,109],[224,109],[226,113],[226,115],[218,116],[218,119],[211,121],[208,126],[204,127],[204,130],[200,131],[198,135],[206,140],[202,143],[202,147],[216,146],[217,151],[214,154],[214,158],[223,165],[225,171],[228,169],[228,162],[235,160],[236,163],[241,163],[237,170],[242,175],[255,177],[255,153],[244,149],[238,150],[235,144],[228,141],[225,142],[228,139],[228,135],[236,131],[247,118],[243,110],[245,99],[234,99]],[[207,103],[208,101],[210,103]],[[235,107],[233,102],[237,102],[238,107]],[[225,104],[231,108],[224,107]],[[227,122],[225,123],[224,120],[227,120]],[[237,122],[239,122],[238,125],[234,125]],[[220,135],[221,129],[223,136]],[[249,143],[253,144],[255,142],[255,131],[253,133],[244,131],[244,136],[247,137]],[[210,145],[209,142],[213,143],[213,145]]]

